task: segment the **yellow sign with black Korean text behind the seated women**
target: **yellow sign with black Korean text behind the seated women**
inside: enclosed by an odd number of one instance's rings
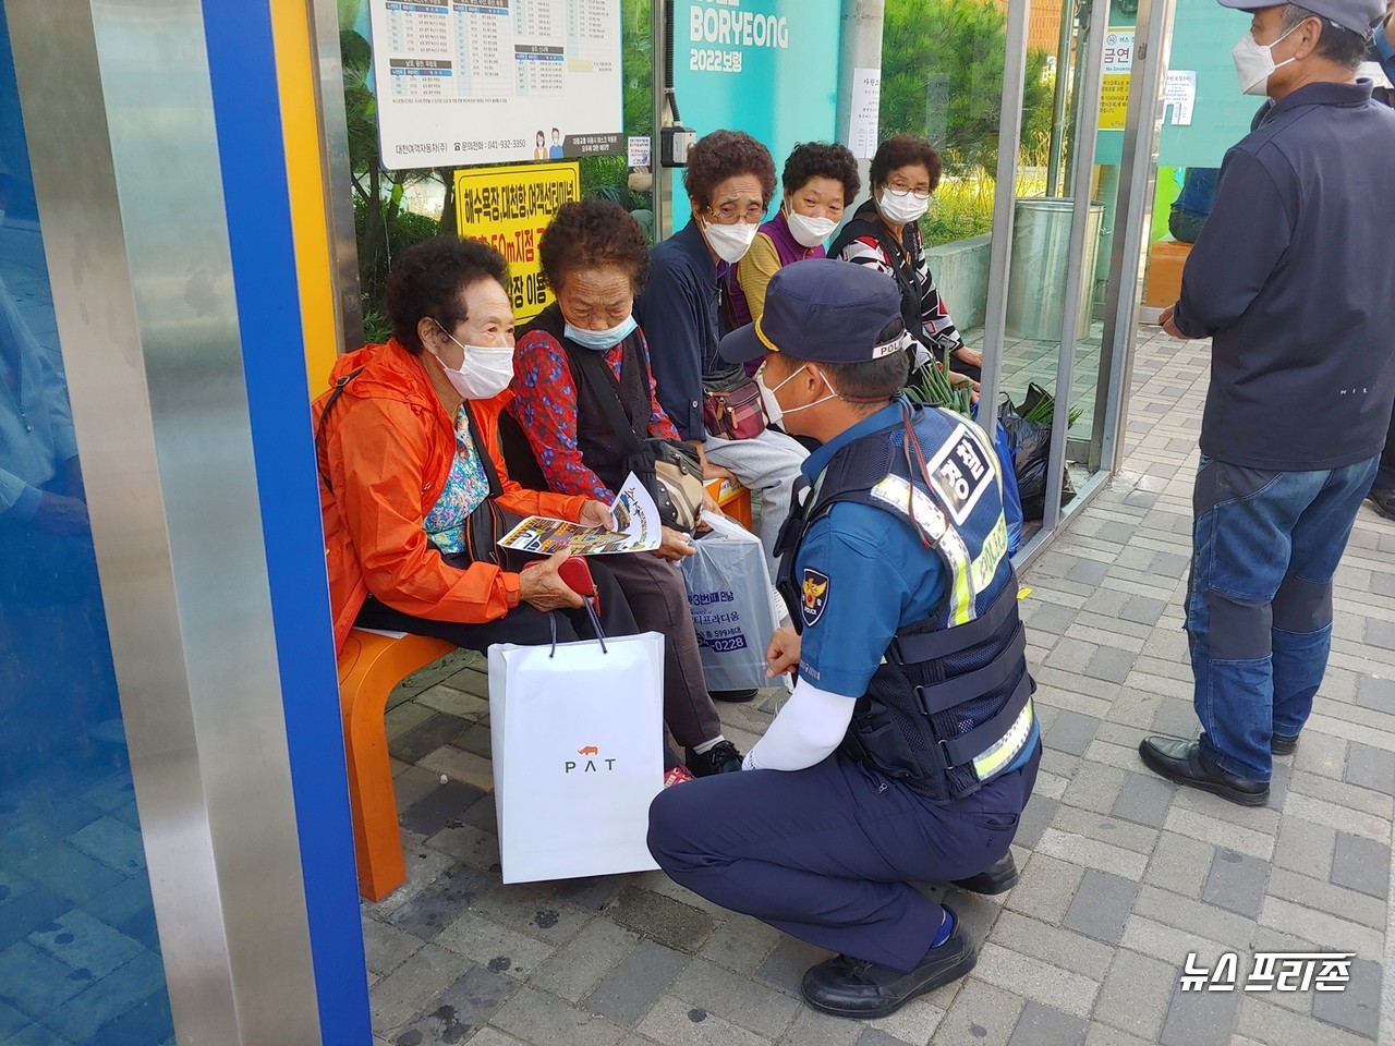
[[[456,232],[490,244],[508,261],[509,297],[519,324],[552,301],[543,286],[537,244],[562,204],[580,195],[576,163],[466,167],[455,173]]]

